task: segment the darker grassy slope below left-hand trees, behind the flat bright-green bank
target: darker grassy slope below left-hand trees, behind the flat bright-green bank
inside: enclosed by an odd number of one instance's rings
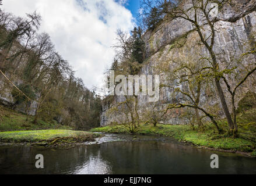
[[[3,131],[22,131],[22,130],[45,130],[45,129],[66,129],[72,130],[72,127],[62,126],[57,121],[43,121],[38,120],[37,124],[33,123],[34,117],[27,116],[15,112],[11,109],[5,108],[0,105],[0,132]]]

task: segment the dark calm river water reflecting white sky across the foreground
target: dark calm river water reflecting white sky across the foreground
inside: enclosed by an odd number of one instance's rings
[[[211,155],[219,169],[211,169]],[[36,155],[44,169],[36,169]],[[71,149],[1,145],[0,174],[256,174],[256,159],[198,149],[164,137],[107,134]]]

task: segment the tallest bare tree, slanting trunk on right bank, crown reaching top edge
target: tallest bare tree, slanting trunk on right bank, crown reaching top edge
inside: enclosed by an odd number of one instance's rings
[[[211,60],[212,77],[215,81],[216,91],[218,93],[220,103],[222,104],[227,123],[229,124],[229,133],[237,135],[237,127],[232,115],[229,112],[225,94],[223,93],[223,85],[220,83],[219,74],[224,72],[220,70],[220,62],[214,51],[216,30],[215,23],[218,21],[216,9],[221,8],[230,3],[229,0],[213,1],[213,0],[190,0],[190,1],[144,1],[143,5],[148,9],[157,7],[158,13],[162,13],[166,20],[184,19],[191,23],[193,30],[199,35],[201,44],[204,45],[209,53]],[[154,5],[153,7],[151,5]],[[187,36],[186,36],[187,38]],[[233,93],[232,93],[233,94]]]

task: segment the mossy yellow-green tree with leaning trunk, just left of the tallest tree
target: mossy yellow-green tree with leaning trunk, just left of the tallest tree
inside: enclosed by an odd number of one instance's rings
[[[176,67],[170,69],[170,63],[175,64]],[[195,110],[195,118],[199,128],[203,128],[201,116],[199,112],[203,113],[206,117],[211,119],[212,123],[216,126],[219,133],[222,133],[222,129],[219,128],[215,117],[211,112],[204,108],[202,103],[202,89],[206,88],[206,84],[211,83],[211,64],[205,58],[200,58],[195,54],[194,57],[179,56],[179,59],[173,58],[172,61],[162,63],[158,68],[166,74],[161,88],[169,87],[173,90],[174,98],[181,94],[183,99],[176,103],[170,104],[167,109],[175,108],[192,108]]]

